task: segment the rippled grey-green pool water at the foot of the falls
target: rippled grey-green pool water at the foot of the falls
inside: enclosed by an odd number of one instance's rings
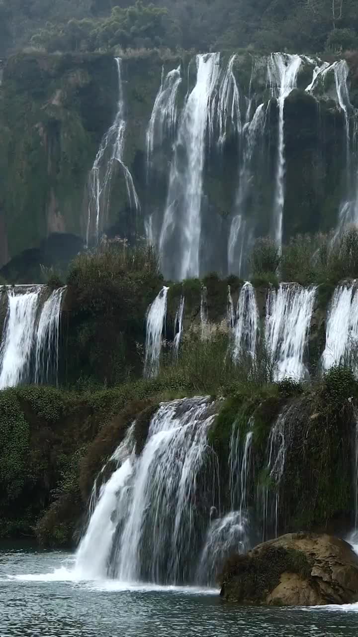
[[[358,605],[238,608],[215,590],[80,582],[73,556],[0,550],[1,637],[358,636]]]

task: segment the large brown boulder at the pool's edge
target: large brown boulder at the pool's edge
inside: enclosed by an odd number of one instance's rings
[[[358,601],[358,555],[327,534],[287,534],[233,555],[222,598],[247,605],[318,606]]]

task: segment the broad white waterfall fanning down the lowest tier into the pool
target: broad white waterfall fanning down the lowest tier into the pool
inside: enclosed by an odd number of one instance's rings
[[[77,573],[125,582],[194,580],[192,555],[203,544],[218,486],[206,440],[214,418],[208,398],[161,404],[140,457],[129,449],[103,487],[78,549]]]

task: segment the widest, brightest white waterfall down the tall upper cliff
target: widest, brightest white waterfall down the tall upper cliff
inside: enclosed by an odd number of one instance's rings
[[[199,276],[205,142],[220,73],[219,59],[216,53],[196,56],[196,85],[184,106],[171,163],[159,251],[162,257],[166,256],[169,234],[175,229],[180,258],[174,264],[174,275],[179,280]],[[169,261],[172,260],[170,254]]]

